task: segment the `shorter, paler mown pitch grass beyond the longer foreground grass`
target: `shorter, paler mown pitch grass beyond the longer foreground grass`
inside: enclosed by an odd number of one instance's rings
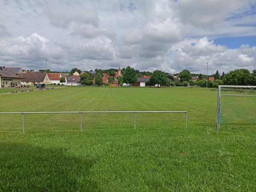
[[[189,88],[64,87],[1,96],[1,111],[188,111],[188,125],[215,125],[215,91]],[[21,130],[21,115],[1,115],[0,130]],[[25,129],[78,129],[79,114],[25,115]],[[207,119],[207,120],[205,120]],[[83,128],[129,128],[132,114],[83,114]],[[182,125],[184,114],[137,114],[137,126]]]

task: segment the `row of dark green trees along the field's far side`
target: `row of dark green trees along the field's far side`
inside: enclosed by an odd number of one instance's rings
[[[87,73],[82,73],[80,75],[81,84],[90,85],[93,84],[93,78],[95,77],[95,84],[102,85],[102,72],[108,72],[111,76],[114,76],[112,72],[115,69],[110,70],[95,70],[96,75]],[[180,81],[174,81],[172,76],[169,76],[168,73],[165,73],[161,70],[155,70],[153,73],[151,72],[143,72],[141,73],[139,70],[135,70],[134,68],[128,66],[122,69],[123,76],[120,76],[118,79],[118,83],[128,83],[128,84],[136,84],[138,81],[138,77],[143,77],[145,75],[151,76],[149,81],[145,82],[147,85],[166,85],[166,86],[198,86],[198,87],[218,87],[218,85],[256,85],[256,70],[253,70],[253,73],[250,73],[247,69],[236,69],[230,71],[227,74],[222,73],[220,76],[218,70],[214,75],[215,81],[207,81],[205,75],[198,74],[198,80],[193,81],[192,75],[189,70],[182,70],[177,75],[180,78]],[[113,76],[108,79],[109,83],[114,81]],[[209,76],[209,77],[211,77]]]

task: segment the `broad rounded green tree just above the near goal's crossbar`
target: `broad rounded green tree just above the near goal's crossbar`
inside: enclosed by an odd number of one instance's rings
[[[251,74],[247,69],[237,69],[230,71],[223,77],[223,82],[226,85],[249,85]]]

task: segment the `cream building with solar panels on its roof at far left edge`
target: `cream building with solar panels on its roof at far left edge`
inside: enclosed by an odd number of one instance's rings
[[[0,67],[0,88],[20,87],[21,79],[15,74],[14,70]]]

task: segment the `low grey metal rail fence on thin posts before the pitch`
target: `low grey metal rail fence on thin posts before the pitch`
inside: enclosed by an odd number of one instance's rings
[[[134,113],[134,129],[136,129],[136,113],[185,113],[185,128],[187,128],[187,111],[59,111],[59,112],[0,112],[0,114],[21,114],[22,133],[24,128],[24,114],[78,113],[80,114],[80,131],[82,131],[82,113]]]

